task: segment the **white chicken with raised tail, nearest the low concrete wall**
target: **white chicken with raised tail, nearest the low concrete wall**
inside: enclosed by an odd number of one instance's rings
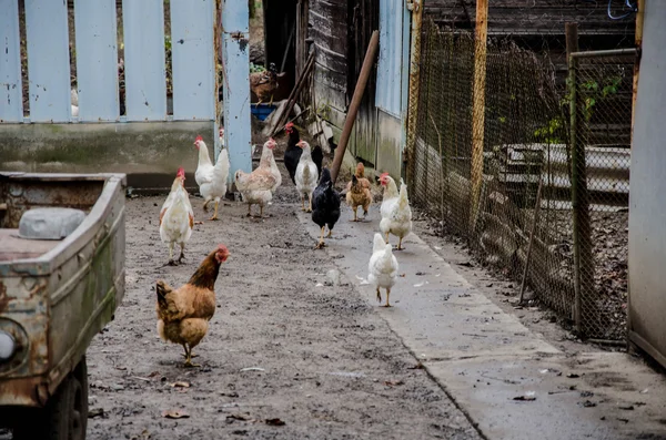
[[[223,133],[223,130],[224,129],[221,129],[221,133]],[[220,155],[218,156],[218,163],[213,166],[203,137],[196,136],[194,145],[196,146],[196,150],[199,150],[199,165],[196,165],[194,180],[196,181],[199,192],[203,197],[203,211],[208,212],[209,203],[215,202],[215,212],[209,219],[216,221],[220,199],[226,195],[229,152],[226,149],[221,150]]]

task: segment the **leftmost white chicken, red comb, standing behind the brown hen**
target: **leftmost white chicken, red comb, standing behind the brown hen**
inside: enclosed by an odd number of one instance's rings
[[[169,265],[174,266],[173,246],[178,243],[181,247],[181,254],[178,262],[185,257],[185,243],[192,235],[194,226],[194,212],[190,204],[190,196],[185,191],[185,171],[180,167],[171,192],[160,209],[160,237],[163,243],[169,243]]]

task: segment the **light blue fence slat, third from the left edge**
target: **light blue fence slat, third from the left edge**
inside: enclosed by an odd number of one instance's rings
[[[115,0],[74,0],[80,121],[117,121]]]

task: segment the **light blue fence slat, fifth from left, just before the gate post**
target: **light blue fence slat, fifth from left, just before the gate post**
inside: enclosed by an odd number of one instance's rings
[[[171,0],[173,119],[215,119],[212,0]]]

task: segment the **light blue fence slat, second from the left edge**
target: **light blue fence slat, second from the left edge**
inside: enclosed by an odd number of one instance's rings
[[[70,121],[67,3],[26,0],[30,121]]]

